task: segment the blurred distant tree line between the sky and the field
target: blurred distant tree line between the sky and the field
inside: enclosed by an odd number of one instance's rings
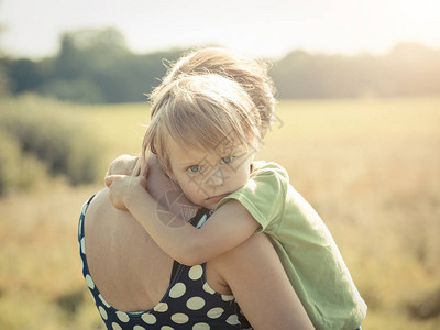
[[[59,51],[40,61],[2,56],[11,94],[36,92],[75,102],[138,102],[187,50],[134,54],[114,29],[61,36]],[[440,50],[397,44],[385,55],[293,51],[272,62],[278,98],[355,98],[440,95]]]

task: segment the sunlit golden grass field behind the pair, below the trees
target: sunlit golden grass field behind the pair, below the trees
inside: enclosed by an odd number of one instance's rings
[[[77,109],[108,162],[139,152],[147,110]],[[440,328],[439,129],[438,97],[282,101],[257,155],[287,168],[333,233],[369,305],[364,329]],[[0,199],[0,329],[103,329],[76,241],[101,186],[56,179]]]

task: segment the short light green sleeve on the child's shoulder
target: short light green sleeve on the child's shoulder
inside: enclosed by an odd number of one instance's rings
[[[282,166],[256,162],[248,184],[223,198],[216,209],[228,200],[237,199],[260,223],[257,232],[267,229],[276,232],[284,216],[288,183],[288,174]]]

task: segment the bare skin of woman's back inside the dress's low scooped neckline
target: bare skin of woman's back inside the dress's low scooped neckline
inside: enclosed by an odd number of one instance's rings
[[[128,211],[99,191],[85,217],[87,264],[105,299],[123,311],[147,310],[165,294],[173,260]]]

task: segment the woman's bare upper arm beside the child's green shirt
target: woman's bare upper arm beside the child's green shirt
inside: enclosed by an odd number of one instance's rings
[[[315,329],[265,234],[254,234],[218,262],[254,329]]]

